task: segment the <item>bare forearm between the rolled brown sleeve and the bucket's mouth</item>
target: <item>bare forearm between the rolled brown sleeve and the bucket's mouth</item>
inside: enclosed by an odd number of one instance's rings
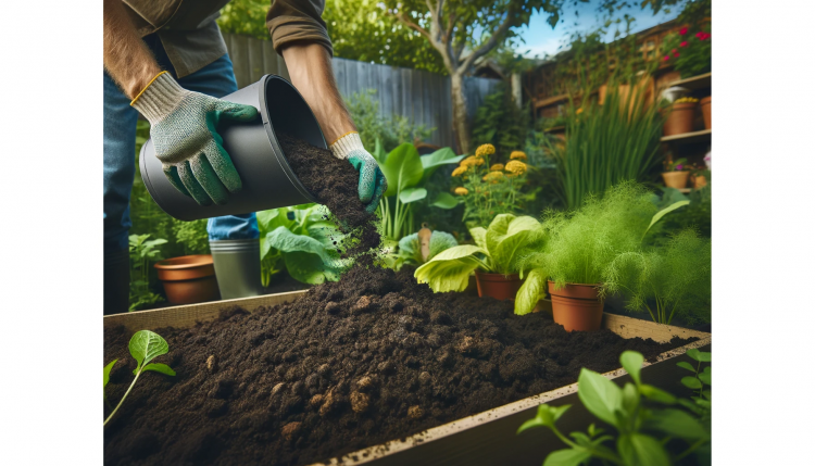
[[[314,112],[329,144],[356,127],[342,102],[331,71],[331,58],[319,43],[292,43],[283,49],[291,84]]]

